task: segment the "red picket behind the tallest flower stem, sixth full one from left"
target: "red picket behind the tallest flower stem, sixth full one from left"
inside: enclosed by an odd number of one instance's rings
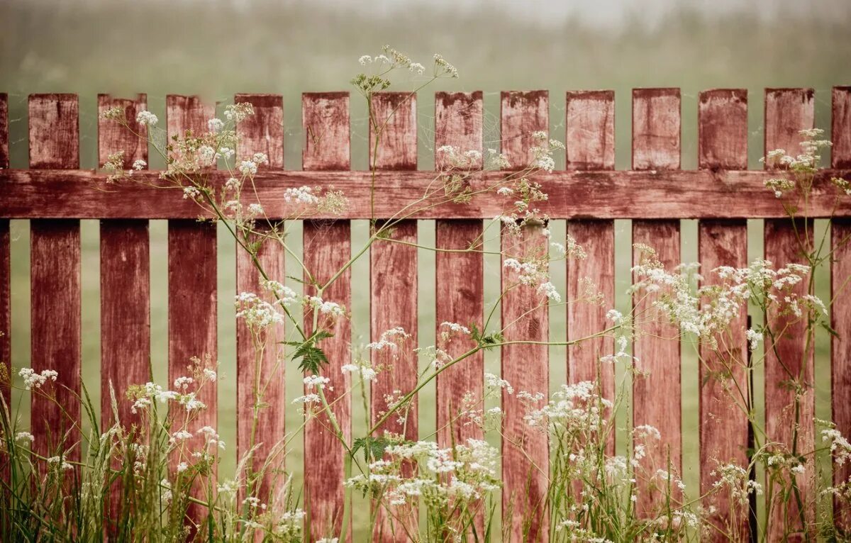
[[[370,121],[370,163],[376,169],[416,169],[416,106],[414,97],[405,93],[376,94],[373,99]],[[380,132],[380,134],[376,134]],[[376,146],[377,142],[377,146]],[[376,146],[374,148],[374,146]],[[373,154],[374,153],[374,154]],[[363,191],[368,185],[363,185]],[[379,223],[381,225],[382,223]],[[386,330],[401,327],[410,338],[398,349],[381,349],[372,352],[372,363],[381,368],[379,379],[371,388],[370,408],[373,421],[387,410],[386,395],[407,394],[417,383],[417,249],[411,245],[393,243],[417,242],[415,220],[396,221],[389,239],[376,241],[369,250],[370,337],[380,340]],[[407,416],[404,416],[406,415]],[[418,400],[414,397],[410,407],[393,416],[378,429],[377,435],[392,432],[416,441],[419,435],[417,417]],[[406,540],[401,524],[417,526],[416,508],[394,508],[394,518],[383,509],[378,512],[373,533],[374,540]],[[396,519],[401,518],[401,523]]]

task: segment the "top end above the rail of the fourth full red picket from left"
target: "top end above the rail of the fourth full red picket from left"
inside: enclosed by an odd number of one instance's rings
[[[237,94],[233,97],[234,104],[243,102],[254,107],[254,115],[237,124],[237,159],[262,152],[269,157],[269,168],[282,169],[283,97],[280,94]]]

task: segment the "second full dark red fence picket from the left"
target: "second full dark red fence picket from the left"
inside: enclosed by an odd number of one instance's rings
[[[135,100],[98,94],[98,163],[124,151],[123,168],[148,160],[146,140],[116,121],[100,118],[111,107],[121,107],[133,131],[145,136],[146,126],[135,123],[136,113],[147,109],[145,94]],[[147,220],[100,222],[100,422],[114,422],[110,387],[118,402],[124,426],[140,419],[130,412],[125,393],[130,385],[151,380],[151,276]]]

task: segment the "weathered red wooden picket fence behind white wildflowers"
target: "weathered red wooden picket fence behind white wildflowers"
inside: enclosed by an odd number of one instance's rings
[[[288,186],[328,186],[344,191],[350,207],[333,223],[306,220],[304,243],[306,266],[318,281],[342,266],[351,254],[350,220],[370,218],[369,174],[350,171],[350,117],[348,93],[308,93],[302,99],[302,118],[306,134],[303,170],[285,170],[283,163],[283,100],[271,94],[238,94],[237,101],[248,101],[257,114],[241,123],[239,156],[265,152],[270,167],[256,179],[259,200],[271,217],[283,216],[286,203],[283,189]],[[416,96],[379,94],[374,98],[376,117],[391,117],[378,147],[375,162],[380,173],[376,186],[376,218],[389,217],[406,203],[416,200],[433,177],[432,172],[417,171]],[[406,103],[404,100],[408,100]],[[549,94],[546,91],[504,92],[501,94],[502,149],[511,163],[526,163],[530,134],[547,131]],[[567,219],[568,233],[585,247],[587,258],[569,260],[568,298],[580,294],[580,278],[591,277],[602,289],[603,306],[568,307],[568,339],[583,337],[605,327],[605,312],[614,306],[614,222],[631,219],[634,243],[653,246],[665,266],[680,262],[680,219],[699,219],[700,263],[704,269],[718,265],[746,266],[747,237],[745,219],[765,219],[765,258],[776,263],[799,261],[795,232],[785,220],[780,201],[766,197],[763,181],[766,171],[747,169],[748,96],[742,89],[716,89],[700,94],[699,169],[680,169],[681,103],[679,89],[635,89],[632,92],[632,168],[614,169],[614,92],[568,92],[566,134],[566,171],[536,174],[549,200],[540,209],[552,219]],[[207,120],[214,117],[212,104],[197,97],[169,95],[166,100],[168,134],[184,129],[206,131]],[[109,95],[98,97],[100,111],[120,106],[129,119],[146,108],[146,96],[119,100]],[[765,94],[765,149],[797,151],[799,129],[814,126],[814,92],[811,89],[768,89]],[[9,168],[8,106],[0,95],[0,360],[9,361],[9,220],[31,220],[31,365],[34,369],[59,369],[61,383],[71,391],[80,390],[81,366],[81,294],[79,219],[100,219],[100,314],[102,385],[111,381],[117,389],[145,382],[149,374],[149,240],[148,220],[168,219],[168,364],[169,378],[183,374],[189,357],[216,356],[215,229],[195,220],[198,208],[191,200],[175,197],[174,191],[162,191],[140,184],[119,184],[110,191],[99,190],[103,175],[79,168],[79,130],[77,96],[73,94],[33,94],[29,97],[30,168]],[[832,221],[834,241],[851,235],[851,199],[834,205],[833,189],[827,186],[831,174],[848,175],[851,169],[851,87],[832,91],[831,168],[820,174],[811,201],[811,216]],[[454,145],[463,149],[483,147],[483,94],[438,93],[435,100],[434,146]],[[137,129],[145,133],[145,127]],[[99,163],[114,151],[124,150],[129,167],[136,159],[147,160],[147,147],[127,130],[99,121]],[[157,179],[157,172],[140,172],[140,177]],[[499,172],[484,171],[475,184],[494,180]],[[222,180],[226,172],[212,172]],[[500,214],[501,203],[493,197],[476,197],[471,203],[446,203],[422,211],[419,219],[437,220],[437,247],[464,249],[483,231],[483,220]],[[322,219],[322,216],[317,219]],[[328,217],[330,218],[330,217]],[[321,230],[320,230],[321,229]],[[416,242],[417,222],[406,220],[394,231],[398,240]],[[503,249],[523,254],[529,249],[527,236],[504,235]],[[282,249],[268,245],[260,255],[273,275],[283,277]],[[375,243],[370,255],[370,296],[372,335],[401,326],[414,334],[417,329],[417,251],[400,243]],[[851,248],[837,250],[832,262],[833,277],[851,275]],[[504,272],[503,284],[512,281]],[[348,272],[326,294],[346,306],[351,305],[351,277]],[[838,285],[834,285],[838,288]],[[257,290],[258,277],[244,252],[237,254],[237,290]],[[483,255],[475,252],[437,254],[437,323],[481,323],[483,320]],[[307,293],[306,293],[307,294]],[[546,340],[549,323],[545,308],[532,289],[514,289],[502,300],[503,322],[514,323],[505,331],[508,339]],[[187,318],[187,316],[191,316]],[[840,337],[832,340],[833,420],[846,435],[851,433],[851,293],[838,293],[832,307],[832,325]],[[659,339],[674,330],[659,325],[659,334],[637,338],[635,355],[640,369],[633,388],[633,424],[659,428],[670,459],[682,467],[680,346],[677,341]],[[735,321],[736,348],[746,356],[746,315]],[[326,374],[340,392],[346,379],[340,367],[350,361],[351,330],[341,321],[334,338],[324,342],[330,363]],[[460,348],[460,346],[458,347]],[[572,346],[568,359],[550,360],[545,346],[506,346],[502,349],[502,376],[517,390],[546,391],[551,364],[568,365],[571,381],[593,379],[597,354],[610,351],[611,340],[597,340],[592,346]],[[800,334],[789,334],[778,345],[778,352],[800,363],[803,354]],[[457,353],[453,353],[457,354]],[[203,401],[210,409],[200,424],[215,426],[217,409],[237,409],[240,422],[250,420],[250,398],[254,375],[250,340],[237,325],[236,402],[216,404],[214,388]],[[374,362],[391,363],[386,355],[374,353]],[[794,362],[798,361],[798,362]],[[392,361],[395,370],[382,374],[374,386],[372,405],[382,409],[384,394],[408,391],[416,381],[416,360],[411,353]],[[709,361],[711,365],[712,361]],[[804,375],[813,376],[813,358],[806,359]],[[268,368],[270,364],[264,367]],[[796,368],[792,368],[795,371]],[[289,369],[287,371],[290,371]],[[603,371],[603,389],[614,391],[612,369]],[[701,367],[701,380],[707,371]],[[783,409],[791,403],[790,392],[782,386],[785,374],[774,355],[765,362],[765,413],[768,435],[776,440],[791,439],[789,415]],[[300,377],[300,376],[299,376]],[[746,463],[748,426],[745,416],[729,409],[719,386],[705,380],[700,387],[700,482],[711,486],[711,459],[723,458]],[[106,389],[105,389],[106,390]],[[471,357],[450,369],[437,380],[437,426],[448,417],[448,406],[459,405],[467,391],[483,390],[483,356]],[[283,435],[283,380],[277,380],[267,398],[271,409],[262,414],[258,441],[273,443]],[[334,392],[331,393],[332,395]],[[103,393],[104,422],[111,416],[109,394]],[[333,401],[334,397],[329,397]],[[79,413],[79,405],[70,394],[60,394],[60,403],[70,413]],[[414,403],[415,406],[415,403]],[[548,460],[545,437],[523,432],[523,409],[516,397],[504,395],[504,431],[510,439],[522,441],[525,454],[504,446],[504,503],[514,500],[515,514],[505,518],[519,538],[519,514],[523,507],[534,506],[545,494],[545,477],[537,472],[528,482],[529,458],[540,465]],[[803,403],[802,420],[814,419],[814,395]],[[350,406],[340,402],[335,414],[349,428]],[[45,437],[58,435],[67,421],[54,406],[34,397],[31,406],[32,432],[38,447]],[[123,413],[129,417],[129,413]],[[411,414],[406,434],[417,437],[417,415]],[[238,427],[237,449],[244,452],[248,428]],[[387,429],[400,430],[393,421]],[[477,437],[471,426],[454,426],[455,438]],[[449,443],[448,430],[440,432],[440,442]],[[814,425],[802,429],[803,443],[814,442]],[[319,423],[305,433],[306,458],[311,469],[305,472],[306,502],[313,517],[312,526],[339,526],[343,506],[343,449]],[[803,445],[806,449],[806,444]],[[262,455],[264,451],[260,451]],[[528,454],[528,457],[526,456]],[[660,458],[660,465],[665,460]],[[318,469],[317,469],[318,466]],[[813,470],[812,462],[807,464]],[[848,472],[837,473],[837,480]],[[813,489],[804,488],[805,495]],[[641,493],[639,496],[646,495]],[[725,513],[724,507],[718,512]],[[784,512],[778,512],[783,515]],[[849,516],[847,511],[837,515]],[[540,511],[531,539],[547,531],[546,512]],[[748,529],[746,523],[740,527]]]

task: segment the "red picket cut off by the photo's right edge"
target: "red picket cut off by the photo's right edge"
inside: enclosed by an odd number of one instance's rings
[[[833,89],[831,165],[851,165],[851,87]],[[849,179],[846,177],[845,179]],[[832,338],[831,350],[831,420],[843,436],[851,435],[851,220],[831,223],[831,327],[839,336]],[[851,466],[834,464],[833,482],[840,484],[851,477]],[[846,532],[851,530],[851,510],[842,500],[833,502],[834,522]]]

